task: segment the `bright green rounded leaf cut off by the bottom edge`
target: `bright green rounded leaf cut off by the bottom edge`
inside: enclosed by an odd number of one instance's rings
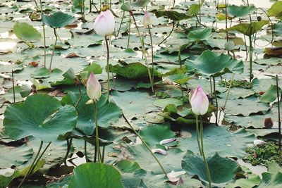
[[[84,163],[73,170],[68,188],[122,188],[121,174],[112,165]]]

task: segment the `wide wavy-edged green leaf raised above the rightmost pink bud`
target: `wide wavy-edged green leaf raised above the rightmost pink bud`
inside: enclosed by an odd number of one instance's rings
[[[212,77],[225,73],[243,73],[243,61],[238,61],[226,54],[216,54],[212,51],[204,51],[195,61],[186,61],[187,70],[197,70],[204,75]]]

